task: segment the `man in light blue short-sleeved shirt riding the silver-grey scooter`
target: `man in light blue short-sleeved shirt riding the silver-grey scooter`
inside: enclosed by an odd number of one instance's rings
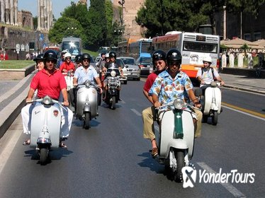
[[[79,66],[77,70],[74,72],[74,86],[84,83],[86,80],[96,81],[96,84],[99,88],[101,88],[101,81],[99,79],[98,73],[96,69],[94,69],[93,65],[90,65],[91,56],[87,53],[82,54],[81,56],[82,66]],[[76,92],[77,89],[74,88],[74,99],[72,99],[74,106],[76,107]],[[102,89],[100,91],[102,93]],[[99,101],[98,101],[99,103]]]

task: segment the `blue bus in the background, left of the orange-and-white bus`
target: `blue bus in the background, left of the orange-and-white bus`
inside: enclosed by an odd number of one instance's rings
[[[129,45],[129,56],[138,59],[139,57],[151,57],[152,39],[142,38]]]

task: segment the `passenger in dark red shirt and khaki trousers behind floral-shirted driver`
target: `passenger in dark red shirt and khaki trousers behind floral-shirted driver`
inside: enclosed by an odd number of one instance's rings
[[[145,97],[147,98],[147,100],[150,101],[150,103],[152,103],[152,105],[154,105],[152,95],[148,95],[148,92],[150,91],[150,88],[152,87],[155,78],[157,78],[157,75],[166,69],[166,56],[167,54],[162,50],[157,50],[152,54],[152,63],[154,65],[153,73],[147,77],[147,80],[145,81],[145,86],[143,88],[143,93]],[[154,106],[147,107],[145,110],[142,111],[142,121],[144,123],[143,136],[145,139],[150,139],[151,141],[151,154],[153,158],[157,156],[158,153],[157,141],[155,139],[154,134],[154,120],[156,120],[155,115],[156,113],[154,110]]]

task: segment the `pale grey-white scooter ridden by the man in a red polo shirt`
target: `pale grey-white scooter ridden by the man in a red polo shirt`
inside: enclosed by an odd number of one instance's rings
[[[31,100],[36,103],[31,113],[30,147],[35,148],[40,156],[40,164],[47,163],[51,149],[60,147],[62,103],[46,95],[44,98]]]

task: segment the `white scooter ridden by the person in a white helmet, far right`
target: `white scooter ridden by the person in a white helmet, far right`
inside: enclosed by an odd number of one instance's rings
[[[222,94],[219,86],[218,81],[211,82],[205,89],[204,96],[201,96],[203,122],[207,122],[208,117],[211,117],[213,125],[218,123],[218,115],[221,113]]]

